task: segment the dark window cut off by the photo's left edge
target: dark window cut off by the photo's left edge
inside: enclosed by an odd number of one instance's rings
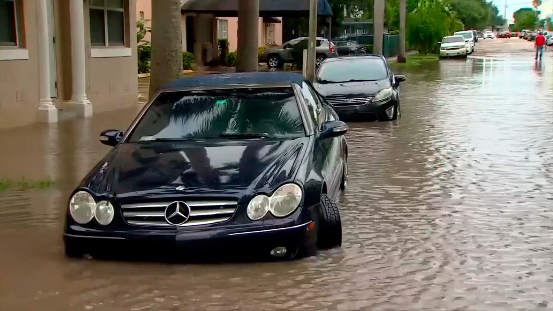
[[[14,0],[0,0],[0,45],[23,47],[21,3]]]

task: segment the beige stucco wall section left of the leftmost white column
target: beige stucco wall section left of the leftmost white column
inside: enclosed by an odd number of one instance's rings
[[[23,126],[36,119],[39,107],[37,4],[23,1],[29,59],[0,61],[0,128]]]

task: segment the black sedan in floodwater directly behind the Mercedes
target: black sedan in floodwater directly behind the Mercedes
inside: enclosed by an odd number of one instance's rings
[[[399,83],[404,80],[392,74],[383,56],[347,56],[321,64],[315,89],[341,118],[389,121],[401,115]]]

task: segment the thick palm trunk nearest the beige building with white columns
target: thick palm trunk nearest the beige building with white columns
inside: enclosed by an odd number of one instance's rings
[[[152,61],[149,100],[182,74],[180,1],[152,1]]]

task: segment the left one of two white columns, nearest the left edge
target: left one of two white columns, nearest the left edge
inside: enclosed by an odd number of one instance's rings
[[[50,98],[50,49],[48,35],[48,9],[46,0],[38,1],[38,63],[39,63],[39,122],[58,122],[58,109]]]

